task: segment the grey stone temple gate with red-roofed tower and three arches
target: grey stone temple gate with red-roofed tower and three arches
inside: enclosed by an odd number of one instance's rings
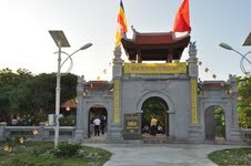
[[[76,139],[90,137],[90,110],[102,105],[109,142],[142,139],[143,125],[157,112],[168,139],[203,142],[210,125],[207,108],[219,105],[225,115],[225,139],[240,141],[234,77],[228,82],[198,82],[197,49],[189,43],[189,35],[175,39],[172,32],[134,31],[133,39],[122,39],[130,62],[123,63],[121,48],[116,48],[112,82],[78,80]],[[189,59],[180,62],[188,45]],[[149,100],[160,101],[155,112],[149,112],[149,105],[145,108]]]

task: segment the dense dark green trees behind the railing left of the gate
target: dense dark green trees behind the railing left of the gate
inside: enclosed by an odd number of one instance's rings
[[[77,75],[61,76],[61,103],[77,96]],[[10,69],[0,71],[0,117],[7,121],[11,114],[29,115],[36,125],[54,113],[56,107],[56,73],[32,75],[19,69],[13,73]],[[4,116],[4,117],[3,117]],[[3,120],[4,118],[4,120]],[[10,122],[10,120],[9,120]]]

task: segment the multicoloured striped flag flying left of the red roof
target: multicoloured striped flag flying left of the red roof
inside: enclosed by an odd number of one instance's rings
[[[128,27],[127,27],[124,10],[123,10],[123,3],[122,3],[122,0],[120,0],[120,9],[119,9],[118,19],[117,19],[116,46],[118,46],[121,43],[121,39],[126,37],[127,32],[128,32]]]

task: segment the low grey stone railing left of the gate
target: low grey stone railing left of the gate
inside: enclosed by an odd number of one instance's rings
[[[59,139],[68,141],[74,137],[76,126],[60,126]],[[29,141],[53,141],[54,126],[47,126],[43,122],[39,126],[8,126],[6,122],[0,123],[0,141],[7,137],[22,135]]]

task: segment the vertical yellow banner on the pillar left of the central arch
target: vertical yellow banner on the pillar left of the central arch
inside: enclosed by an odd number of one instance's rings
[[[113,81],[113,123],[120,123],[120,80]]]

